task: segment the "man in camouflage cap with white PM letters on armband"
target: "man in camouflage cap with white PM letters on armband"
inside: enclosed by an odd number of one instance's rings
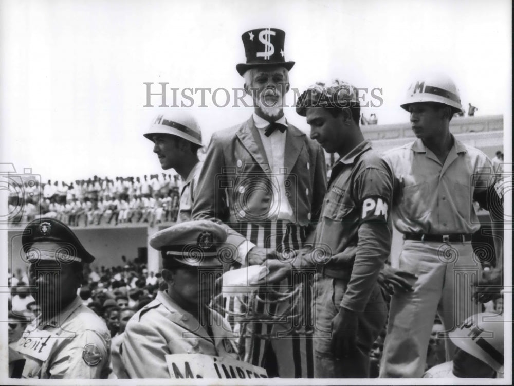
[[[310,137],[340,157],[314,242],[326,256],[315,283],[316,378],[369,377],[369,353],[387,317],[377,279],[391,249],[392,175],[364,140],[358,100],[355,87],[335,79],[311,85],[297,102]]]

